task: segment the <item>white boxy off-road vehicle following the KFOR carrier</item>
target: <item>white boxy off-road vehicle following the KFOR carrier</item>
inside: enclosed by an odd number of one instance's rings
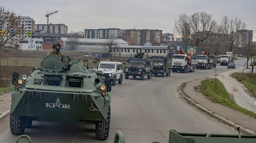
[[[98,70],[101,70],[104,73],[103,76],[106,80],[111,80],[112,86],[116,85],[116,80],[119,84],[122,84],[122,63],[101,61]]]

